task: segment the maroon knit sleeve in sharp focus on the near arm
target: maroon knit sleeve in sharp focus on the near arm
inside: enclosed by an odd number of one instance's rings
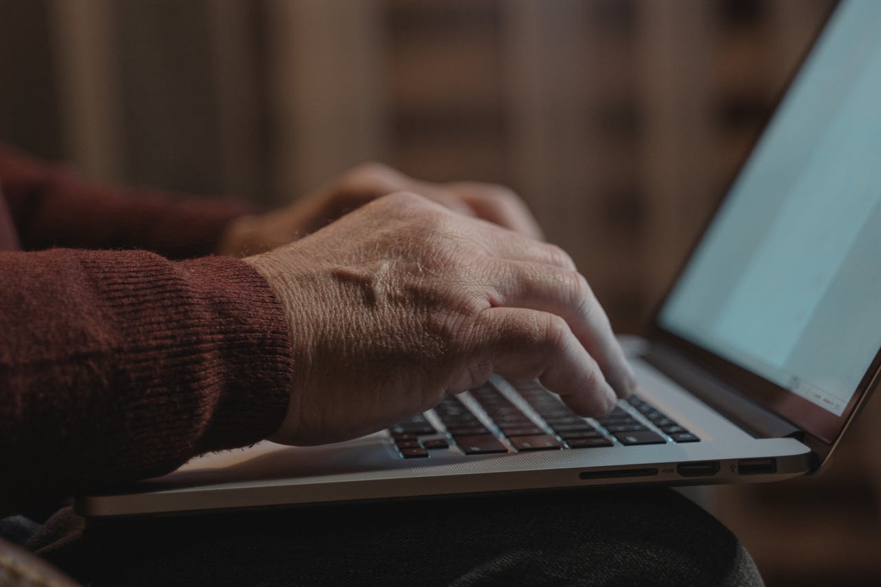
[[[232,257],[0,253],[0,510],[174,470],[281,424],[283,310]]]

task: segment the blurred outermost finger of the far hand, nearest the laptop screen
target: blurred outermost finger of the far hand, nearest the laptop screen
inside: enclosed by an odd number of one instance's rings
[[[480,182],[453,182],[446,187],[470,205],[478,218],[544,240],[542,229],[526,203],[510,189]]]

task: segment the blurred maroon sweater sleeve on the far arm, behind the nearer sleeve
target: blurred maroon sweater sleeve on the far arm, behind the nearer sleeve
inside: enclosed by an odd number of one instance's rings
[[[109,188],[0,145],[0,177],[24,249],[145,249],[172,259],[215,252],[242,204]]]

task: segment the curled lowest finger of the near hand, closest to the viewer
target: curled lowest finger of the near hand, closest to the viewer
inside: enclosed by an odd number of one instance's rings
[[[479,364],[511,379],[538,379],[573,412],[598,416],[618,399],[559,316],[526,308],[488,308],[478,315],[469,349]]]

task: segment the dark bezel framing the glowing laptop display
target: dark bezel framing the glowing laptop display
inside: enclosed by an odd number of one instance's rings
[[[854,395],[848,401],[848,405],[845,407],[844,411],[840,416],[836,416],[833,412],[828,412],[819,405],[813,404],[810,401],[797,396],[795,393],[737,365],[737,363],[725,359],[721,355],[713,353],[686,338],[682,338],[672,331],[666,330],[661,325],[660,314],[669,300],[674,287],[682,277],[688,261],[691,260],[695,249],[697,249],[700,241],[702,241],[705,234],[707,234],[707,229],[710,227],[716,212],[719,211],[722,202],[724,202],[731,188],[737,181],[737,177],[743,171],[744,164],[751,156],[751,153],[759,143],[760,138],[764,135],[768,123],[773,120],[774,115],[780,107],[781,101],[788,94],[789,88],[798,73],[803,69],[805,60],[811,55],[811,51],[817,45],[818,38],[823,33],[830,19],[832,19],[833,14],[841,4],[843,3],[836,1],[830,6],[829,11],[825,15],[825,19],[822,19],[821,25],[818,26],[818,30],[814,33],[811,43],[803,52],[803,56],[800,59],[798,66],[793,69],[788,82],[784,85],[777,100],[775,100],[774,108],[769,109],[764,122],[760,125],[759,131],[753,138],[750,149],[745,152],[743,160],[741,160],[736,172],[730,178],[723,197],[720,198],[716,204],[714,213],[710,215],[709,219],[707,219],[707,223],[704,229],[700,232],[700,236],[694,241],[688,256],[685,257],[683,264],[680,265],[676,279],[672,280],[670,287],[663,295],[661,303],[655,308],[649,332],[649,336],[653,340],[663,342],[663,344],[676,348],[677,351],[685,354],[686,357],[693,360],[700,365],[700,367],[706,368],[714,376],[719,377],[724,383],[727,383],[729,386],[743,393],[744,396],[750,398],[757,404],[762,405],[766,409],[777,413],[785,420],[792,422],[808,434],[817,437],[818,440],[829,445],[837,442],[841,432],[847,426],[848,421],[854,414],[855,408],[860,405],[862,398],[871,389],[873,383],[875,383],[879,368],[881,368],[881,349],[878,349],[875,354],[870,367],[862,376],[860,384],[857,386]]]

